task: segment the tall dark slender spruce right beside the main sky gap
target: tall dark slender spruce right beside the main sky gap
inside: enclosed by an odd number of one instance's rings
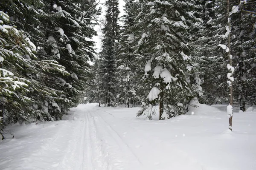
[[[119,42],[119,29],[118,15],[120,13],[118,9],[118,0],[107,0],[105,5],[107,11],[105,15],[105,26],[102,29],[104,38],[102,40],[102,51],[100,52],[100,68],[102,79],[102,99],[105,101],[105,105],[113,105],[116,102],[116,56],[117,47]]]

